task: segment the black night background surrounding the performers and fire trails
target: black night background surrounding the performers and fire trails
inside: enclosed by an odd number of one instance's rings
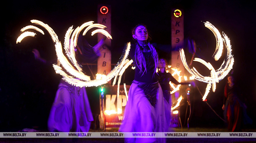
[[[58,35],[61,43],[67,29],[82,25],[87,21],[97,23],[97,4],[111,5],[112,10],[112,63],[117,63],[123,46],[132,41],[131,29],[138,23],[147,25],[152,42],[171,44],[172,8],[183,9],[184,38],[194,39],[200,50],[196,57],[211,62],[215,69],[223,61],[214,61],[216,41],[212,32],[203,22],[211,22],[220,32],[230,38],[233,66],[238,86],[243,91],[248,115],[255,121],[255,2],[237,0],[199,1],[6,1],[2,5],[2,29],[0,48],[0,132],[18,131],[23,128],[47,129],[47,119],[55,92],[61,79],[52,66],[42,65],[34,59],[32,49],[40,51],[47,60],[56,57],[54,44],[48,33],[37,33],[16,44],[20,29],[36,19],[48,24]],[[43,29],[44,30],[44,29]],[[45,30],[44,30],[45,31]],[[96,35],[89,41],[95,44]],[[120,56],[119,56],[120,55]],[[191,57],[191,53],[186,53]],[[166,55],[159,55],[165,57]],[[187,58],[189,59],[189,58]],[[190,60],[190,59],[189,59]],[[200,64],[193,63],[203,75],[210,72]],[[91,66],[97,71],[94,66]],[[88,72],[90,75],[90,72]],[[95,73],[96,74],[96,73]],[[92,76],[92,75],[90,75]],[[131,79],[131,78],[130,78]],[[127,81],[126,81],[127,80]],[[223,117],[221,109],[225,79],[217,83],[216,92],[210,90],[207,101]],[[129,72],[124,82],[129,84]],[[197,82],[204,94],[206,83]],[[91,109],[99,113],[99,93],[97,87],[87,88]],[[225,127],[210,107],[201,100],[196,88],[192,89],[192,115],[190,127]],[[186,106],[182,108],[185,112]],[[184,118],[182,118],[184,121]],[[182,122],[183,122],[182,121]],[[255,123],[250,127],[255,128]]]

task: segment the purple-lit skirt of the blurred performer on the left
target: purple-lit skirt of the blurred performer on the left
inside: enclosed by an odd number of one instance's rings
[[[48,129],[51,132],[88,132],[92,111],[84,87],[61,82],[51,107]]]

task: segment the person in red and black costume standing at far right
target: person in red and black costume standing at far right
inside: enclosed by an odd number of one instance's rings
[[[246,113],[247,107],[232,75],[227,77],[224,95],[222,109],[227,121],[227,128],[232,132],[240,132],[242,121],[244,124],[252,124],[252,119]]]

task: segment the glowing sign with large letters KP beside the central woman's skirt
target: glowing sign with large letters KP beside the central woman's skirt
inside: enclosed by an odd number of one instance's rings
[[[130,85],[126,85],[129,92]],[[122,124],[127,98],[124,85],[120,85],[119,97],[117,97],[117,85],[104,86],[104,118],[106,128],[117,128]]]

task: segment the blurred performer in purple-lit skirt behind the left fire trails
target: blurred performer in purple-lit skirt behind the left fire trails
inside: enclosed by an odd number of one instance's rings
[[[86,39],[78,38],[75,48],[79,62],[88,63],[97,60],[100,56],[99,47],[103,44],[103,39],[94,47],[90,46]],[[46,61],[40,56],[37,49],[33,49],[35,59],[46,65],[51,65],[52,61]],[[93,121],[92,111],[87,97],[85,87],[76,87],[60,80],[58,90],[51,107],[48,119],[48,129],[50,132],[88,132]],[[64,142],[65,139],[60,139]],[[76,141],[77,139],[73,139]]]

